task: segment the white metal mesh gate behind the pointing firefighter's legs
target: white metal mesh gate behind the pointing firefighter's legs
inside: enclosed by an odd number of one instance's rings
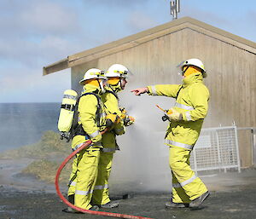
[[[202,129],[190,156],[191,168],[241,171],[236,126]]]

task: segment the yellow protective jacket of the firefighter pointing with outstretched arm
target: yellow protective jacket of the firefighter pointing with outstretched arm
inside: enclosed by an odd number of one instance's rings
[[[166,131],[167,145],[193,149],[208,111],[209,91],[202,80],[201,72],[197,72],[183,78],[183,84],[148,86],[148,95],[176,98],[173,108],[183,115],[182,121],[169,124]]]

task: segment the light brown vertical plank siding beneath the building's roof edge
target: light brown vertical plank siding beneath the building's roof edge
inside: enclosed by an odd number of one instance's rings
[[[247,46],[224,42],[208,31],[183,28],[95,60],[90,56],[88,62],[72,67],[72,86],[80,91],[78,82],[85,71],[91,67],[107,70],[113,63],[129,67],[134,74],[133,85],[130,84],[133,88],[179,84],[181,76],[176,66],[192,57],[201,59],[208,72],[205,83],[211,99],[204,127],[230,126],[233,121],[239,127],[256,126],[256,55]],[[248,135],[240,135],[240,143],[241,164],[249,166],[252,148]]]

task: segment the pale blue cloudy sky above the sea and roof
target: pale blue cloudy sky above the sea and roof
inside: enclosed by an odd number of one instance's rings
[[[180,0],[190,16],[256,42],[256,1]],[[61,102],[70,69],[43,67],[172,20],[169,0],[1,0],[0,103]]]

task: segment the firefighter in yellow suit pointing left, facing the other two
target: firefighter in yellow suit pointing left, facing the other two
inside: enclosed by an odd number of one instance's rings
[[[165,95],[176,99],[168,113],[166,144],[170,147],[169,164],[172,170],[172,201],[167,208],[198,208],[209,192],[189,166],[189,156],[195,146],[207,116],[209,91],[203,84],[206,71],[198,59],[183,61],[180,65],[183,84],[159,84],[133,89],[135,95]]]

